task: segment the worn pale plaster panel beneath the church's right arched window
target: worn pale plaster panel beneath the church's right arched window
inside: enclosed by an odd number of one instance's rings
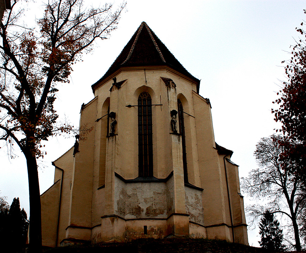
[[[189,220],[203,224],[203,210],[200,191],[185,187],[185,204],[186,213],[189,214]]]

